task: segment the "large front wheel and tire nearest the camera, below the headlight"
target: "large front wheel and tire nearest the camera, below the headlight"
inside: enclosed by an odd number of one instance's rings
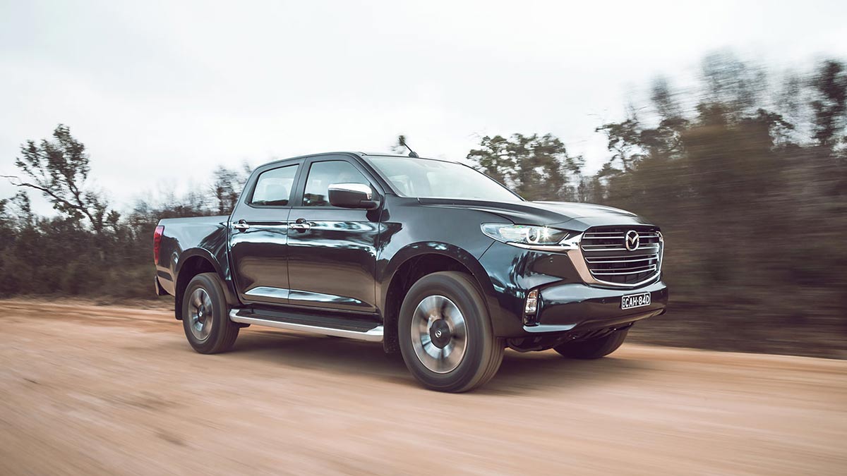
[[[503,361],[482,294],[467,274],[427,274],[408,291],[397,322],[409,372],[425,387],[472,390],[488,382]]]

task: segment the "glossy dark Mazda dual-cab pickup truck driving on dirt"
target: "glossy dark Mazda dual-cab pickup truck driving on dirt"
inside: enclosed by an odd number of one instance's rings
[[[633,213],[363,152],[265,164],[229,217],[163,219],[153,240],[156,291],[196,351],[228,351],[248,325],[382,342],[451,392],[491,379],[506,347],[615,351],[665,312],[663,248]]]

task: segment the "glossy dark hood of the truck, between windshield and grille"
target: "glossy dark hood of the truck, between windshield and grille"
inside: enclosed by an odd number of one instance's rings
[[[547,225],[566,230],[592,226],[650,224],[634,213],[602,205],[575,202],[485,202],[455,198],[419,198],[423,205],[492,213],[515,224]]]

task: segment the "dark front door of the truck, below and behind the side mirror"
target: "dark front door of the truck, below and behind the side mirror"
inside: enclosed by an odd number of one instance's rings
[[[289,303],[372,313],[379,210],[333,207],[328,189],[358,183],[379,191],[346,157],[313,158],[303,167],[306,179],[288,223]]]

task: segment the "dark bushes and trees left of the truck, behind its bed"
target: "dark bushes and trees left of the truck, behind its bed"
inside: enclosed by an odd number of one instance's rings
[[[110,210],[86,187],[85,146],[59,125],[54,141],[27,141],[9,177],[19,192],[0,200],[0,296],[67,294],[152,297],[152,233],[159,219],[229,214],[251,170],[219,167],[204,192],[138,200],[130,213]],[[59,214],[32,212],[27,189],[40,191]]]

